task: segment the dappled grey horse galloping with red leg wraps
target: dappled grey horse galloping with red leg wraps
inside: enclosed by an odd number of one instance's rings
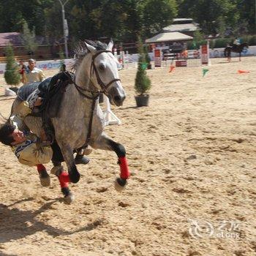
[[[56,142],[61,148],[64,161],[67,163],[67,176],[59,176],[63,182],[77,183],[80,173],[75,166],[73,151],[77,148],[91,146],[108,151],[115,151],[120,165],[120,178],[116,179],[115,187],[121,190],[127,184],[129,170],[126,151],[120,143],[108,138],[103,132],[104,117],[98,104],[99,92],[110,99],[111,104],[121,106],[125,92],[118,76],[116,58],[112,54],[113,41],[108,45],[102,42],[84,42],[75,55],[75,80],[70,80],[57,117],[50,118]],[[12,104],[12,113],[20,104],[18,97]],[[39,117],[27,116],[25,124],[32,132],[40,135],[42,120]]]

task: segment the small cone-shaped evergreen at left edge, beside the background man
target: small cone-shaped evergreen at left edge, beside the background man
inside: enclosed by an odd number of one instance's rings
[[[7,84],[17,86],[20,83],[20,73],[18,64],[15,61],[12,45],[7,45],[5,48],[7,56],[7,65],[5,67],[4,79]]]

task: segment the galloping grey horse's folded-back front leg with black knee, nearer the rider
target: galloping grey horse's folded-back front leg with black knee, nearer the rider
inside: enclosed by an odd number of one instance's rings
[[[58,142],[59,147],[61,148],[61,153],[63,154],[64,161],[67,164],[67,169],[69,175],[65,175],[65,173],[61,173],[60,182],[72,182],[78,183],[80,179],[80,173],[78,173],[78,169],[75,166],[75,160],[73,156],[73,149],[71,146],[66,143]]]

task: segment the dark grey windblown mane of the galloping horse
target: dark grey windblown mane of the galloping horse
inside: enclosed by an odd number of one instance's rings
[[[91,41],[91,40],[85,40],[85,42],[94,48],[96,50],[107,50],[108,45],[106,45],[103,42],[100,41]],[[72,70],[78,69],[80,63],[83,61],[83,58],[86,56],[87,53],[89,53],[89,50],[86,48],[86,44],[84,42],[79,42],[78,46],[74,50],[75,52],[75,61],[74,64],[72,64]]]

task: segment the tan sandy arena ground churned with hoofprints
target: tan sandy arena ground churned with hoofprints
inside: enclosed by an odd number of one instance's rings
[[[67,206],[55,176],[41,187],[35,168],[0,145],[0,255],[256,255],[255,62],[214,59],[204,78],[202,67],[149,70],[148,108],[135,108],[136,69],[121,70],[127,99],[113,112],[122,124],[106,127],[127,148],[132,177],[121,193],[113,152],[78,166]],[[13,97],[0,81],[8,116]]]

